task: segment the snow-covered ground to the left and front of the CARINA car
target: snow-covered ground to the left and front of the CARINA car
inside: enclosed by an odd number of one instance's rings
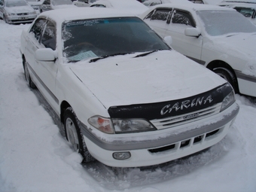
[[[19,48],[28,27],[0,20],[0,192],[256,191],[256,104],[239,95],[230,132],[206,151],[141,169],[81,165],[47,103],[26,85]]]

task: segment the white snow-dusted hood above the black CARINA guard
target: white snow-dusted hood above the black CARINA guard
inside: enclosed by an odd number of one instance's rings
[[[105,108],[186,98],[226,82],[174,50],[134,56],[77,62],[70,69]]]

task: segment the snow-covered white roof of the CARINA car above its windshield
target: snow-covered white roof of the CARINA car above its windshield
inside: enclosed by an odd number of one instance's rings
[[[52,11],[44,11],[39,17],[47,17],[56,23],[66,20],[84,20],[109,17],[131,17],[133,14],[123,13],[123,11],[111,8],[65,8]]]

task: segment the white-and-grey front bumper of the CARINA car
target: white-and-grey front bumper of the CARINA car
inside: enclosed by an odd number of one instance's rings
[[[90,154],[108,166],[135,167],[166,163],[220,142],[227,135],[239,112],[239,105],[203,120],[187,123],[179,129],[164,129],[145,133],[108,135],[81,126]],[[175,127],[177,128],[177,127]],[[178,130],[178,132],[177,132]],[[115,160],[114,152],[129,151],[131,157]]]

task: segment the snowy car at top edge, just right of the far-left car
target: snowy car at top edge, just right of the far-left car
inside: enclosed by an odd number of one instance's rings
[[[71,0],[44,0],[40,6],[40,12],[59,8],[77,8]]]

